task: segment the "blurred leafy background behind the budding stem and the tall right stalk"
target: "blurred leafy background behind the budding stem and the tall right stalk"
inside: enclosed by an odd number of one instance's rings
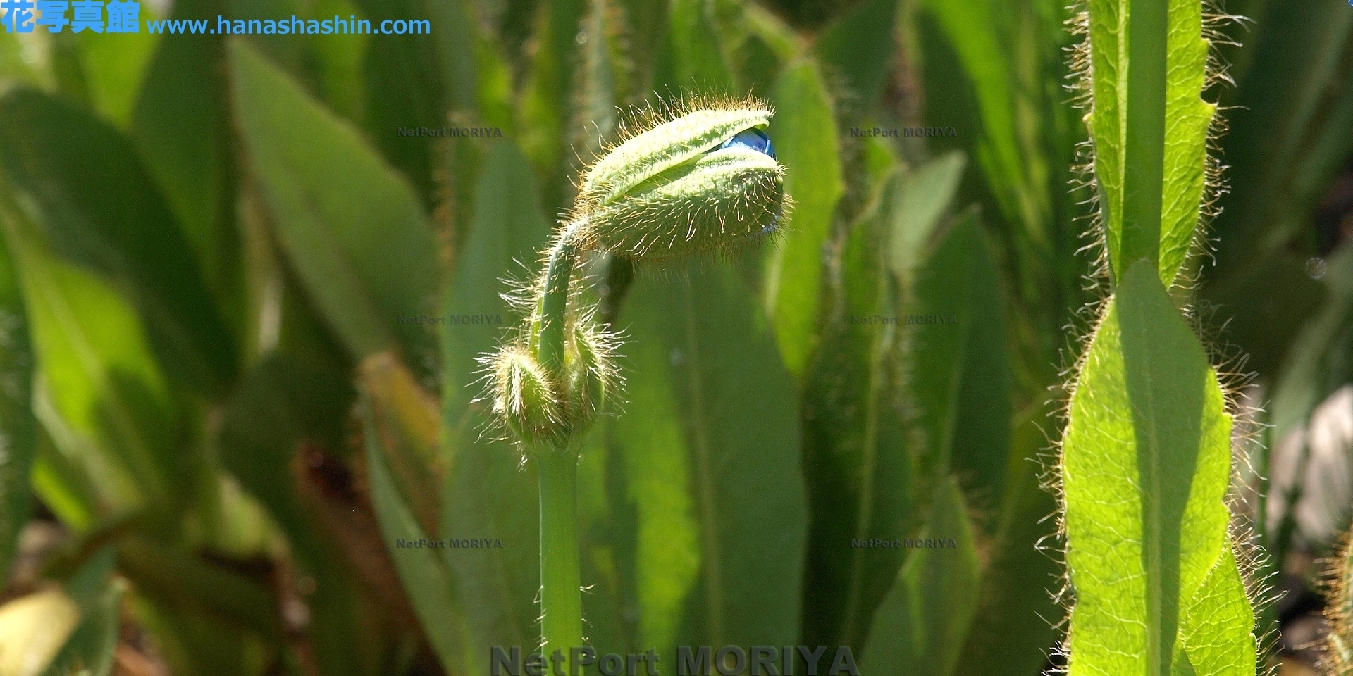
[[[483,434],[475,358],[635,107],[748,92],[785,237],[583,266],[626,379],[580,468],[589,641],[664,673],[676,645],[800,644],[866,676],[1040,673],[1065,600],[1042,479],[1104,292],[1062,4],[177,0],[142,18],[433,34],[0,35],[0,676],[530,652],[536,479]],[[1353,7],[1227,9],[1230,189],[1181,293],[1250,407],[1237,511],[1296,669],[1353,503],[1353,434],[1314,431],[1353,416]],[[852,545],[875,538],[953,548]]]

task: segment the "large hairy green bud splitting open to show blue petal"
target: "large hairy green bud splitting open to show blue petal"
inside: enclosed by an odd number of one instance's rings
[[[620,143],[583,176],[583,237],[635,258],[672,258],[774,231],[786,199],[762,131],[770,116],[754,103],[694,110]]]

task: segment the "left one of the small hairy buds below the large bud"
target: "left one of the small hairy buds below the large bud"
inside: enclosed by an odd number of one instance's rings
[[[544,369],[525,349],[507,345],[492,361],[494,415],[526,446],[566,441],[568,426]]]

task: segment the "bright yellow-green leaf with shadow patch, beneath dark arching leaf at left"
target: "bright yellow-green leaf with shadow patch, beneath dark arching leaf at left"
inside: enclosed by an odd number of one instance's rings
[[[185,469],[176,453],[179,412],[135,312],[96,276],[55,260],[3,193],[0,224],[19,262],[41,364],[34,412],[68,476],[97,477],[68,484],[97,491],[77,502],[114,511],[169,504]]]

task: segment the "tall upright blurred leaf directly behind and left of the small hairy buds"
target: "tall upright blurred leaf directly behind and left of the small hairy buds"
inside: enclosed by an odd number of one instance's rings
[[[456,573],[479,671],[488,669],[490,646],[538,639],[536,476],[521,466],[518,449],[487,429],[487,404],[476,402],[484,395],[476,358],[494,350],[520,319],[502,299],[510,291],[506,279],[530,279],[549,233],[530,165],[513,142],[499,141],[479,176],[469,238],[442,297],[442,315],[456,323],[440,327],[442,439],[451,458],[441,529],[451,538],[492,537],[503,544],[446,550],[444,557]]]

